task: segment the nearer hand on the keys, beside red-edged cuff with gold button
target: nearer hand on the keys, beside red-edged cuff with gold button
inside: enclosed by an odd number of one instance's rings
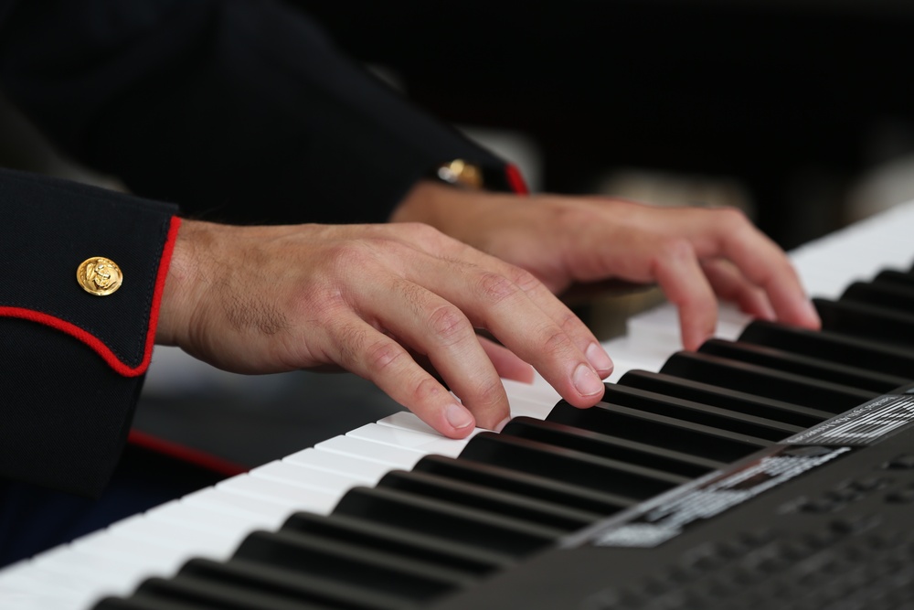
[[[474,328],[505,348],[481,344]],[[419,224],[185,220],[156,341],[236,372],[351,370],[454,438],[473,423],[505,423],[499,373],[531,372],[511,352],[579,407],[600,400],[612,369],[587,327],[530,273]]]

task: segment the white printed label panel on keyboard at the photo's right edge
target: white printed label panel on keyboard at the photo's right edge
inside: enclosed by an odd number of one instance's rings
[[[900,432],[911,423],[914,396],[889,394],[794,434],[783,443],[860,447],[882,440],[887,433]]]

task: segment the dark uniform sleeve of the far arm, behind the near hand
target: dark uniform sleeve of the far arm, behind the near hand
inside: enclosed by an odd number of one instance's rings
[[[5,90],[54,141],[191,214],[383,221],[457,157],[507,187],[500,159],[282,5],[45,0],[22,3],[4,34]]]

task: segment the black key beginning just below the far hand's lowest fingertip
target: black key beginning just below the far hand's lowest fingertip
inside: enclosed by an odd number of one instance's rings
[[[710,354],[677,352],[666,360],[663,369],[660,370],[685,379],[704,381],[833,413],[853,409],[877,396],[876,392],[811,380],[781,370]]]

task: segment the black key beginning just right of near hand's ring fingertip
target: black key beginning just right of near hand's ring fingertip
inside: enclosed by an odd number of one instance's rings
[[[682,476],[702,476],[727,466],[724,462],[683,454],[651,444],[636,443],[619,436],[600,434],[563,423],[543,422],[531,417],[515,417],[505,426],[502,433]]]

